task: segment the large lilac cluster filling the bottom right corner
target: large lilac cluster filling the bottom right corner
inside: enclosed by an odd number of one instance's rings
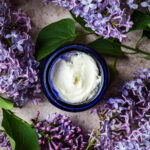
[[[150,149],[150,69],[135,73],[132,81],[123,85],[116,98],[110,98],[98,110],[99,134],[94,148],[105,150]]]

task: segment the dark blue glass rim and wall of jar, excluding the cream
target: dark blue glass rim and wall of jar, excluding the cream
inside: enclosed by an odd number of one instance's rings
[[[73,53],[85,53],[91,56],[95,60],[99,70],[99,75],[102,78],[100,84],[98,84],[95,94],[89,99],[78,103],[72,103],[63,99],[59,95],[59,92],[55,89],[51,77],[52,70],[58,59],[67,59],[66,56]],[[94,106],[104,95],[108,86],[108,80],[108,68],[104,59],[95,50],[84,45],[69,45],[55,50],[47,57],[42,74],[43,90],[48,100],[60,109],[73,112],[83,111]]]

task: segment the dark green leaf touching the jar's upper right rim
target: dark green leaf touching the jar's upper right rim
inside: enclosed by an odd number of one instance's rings
[[[122,56],[124,54],[121,50],[121,46],[107,39],[99,38],[89,45],[101,54],[110,56]]]

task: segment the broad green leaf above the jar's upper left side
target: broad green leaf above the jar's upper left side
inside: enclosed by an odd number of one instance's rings
[[[36,42],[36,59],[41,60],[53,50],[76,38],[75,23],[72,19],[63,19],[43,28]]]

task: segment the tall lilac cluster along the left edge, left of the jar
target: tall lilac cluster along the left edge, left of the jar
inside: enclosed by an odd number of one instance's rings
[[[8,0],[0,1],[0,93],[18,106],[40,100],[39,62],[30,29],[30,18],[21,9],[13,11]]]

